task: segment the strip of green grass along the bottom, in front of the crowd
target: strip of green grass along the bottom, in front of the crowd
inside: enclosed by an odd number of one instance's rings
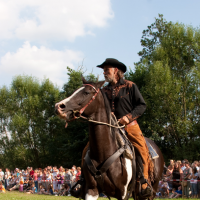
[[[25,194],[20,192],[8,192],[0,193],[0,200],[78,200],[74,197],[67,196],[52,196],[52,195],[37,195],[37,194]],[[114,198],[112,198],[114,200]],[[132,199],[132,198],[131,198]],[[98,200],[107,200],[107,198],[99,198]],[[165,199],[169,200],[169,199]],[[179,200],[184,200],[180,198]]]

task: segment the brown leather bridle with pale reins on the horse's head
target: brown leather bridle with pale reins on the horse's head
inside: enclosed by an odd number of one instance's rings
[[[90,119],[90,118],[87,118],[87,117],[82,116],[82,113],[83,113],[83,112],[85,111],[85,109],[95,100],[97,94],[98,94],[99,91],[100,91],[99,88],[96,89],[96,88],[95,88],[93,85],[91,85],[91,84],[83,84],[83,86],[86,86],[86,85],[92,87],[92,88],[95,90],[95,94],[92,96],[92,98],[90,99],[90,101],[89,101],[83,108],[81,108],[80,110],[75,110],[75,111],[73,110],[73,111],[72,111],[72,113],[73,113],[73,118],[72,118],[71,120],[69,120],[68,122],[71,122],[71,121],[73,121],[73,120],[75,120],[75,119],[82,118],[82,119],[86,119],[86,120],[89,121],[89,122],[93,122],[93,123],[97,123],[97,124],[103,124],[103,125],[107,125],[107,126],[110,126],[110,127],[113,127],[113,128],[124,128],[125,125],[119,126],[119,125],[117,124],[117,126],[115,126],[115,125],[112,125],[112,124],[108,124],[108,123],[105,123],[105,122],[95,121],[95,120],[92,120],[92,119]],[[115,116],[114,116],[114,117],[115,117]]]

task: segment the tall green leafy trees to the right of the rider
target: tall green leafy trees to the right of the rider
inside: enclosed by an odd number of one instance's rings
[[[200,158],[193,148],[200,142],[200,29],[167,22],[159,15],[143,31],[141,44],[140,62],[129,73],[147,103],[141,128],[166,158],[196,160]]]

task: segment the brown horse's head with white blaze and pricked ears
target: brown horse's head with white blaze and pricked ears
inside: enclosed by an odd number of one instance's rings
[[[99,90],[105,81],[88,82],[82,76],[82,82],[83,86],[74,91],[71,96],[55,104],[55,112],[60,118],[66,120],[66,126],[69,121],[76,119],[83,112],[89,117],[98,107]]]

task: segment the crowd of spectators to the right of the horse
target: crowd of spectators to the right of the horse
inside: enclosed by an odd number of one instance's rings
[[[156,195],[160,198],[200,198],[200,161],[170,160],[169,166],[164,166]]]

